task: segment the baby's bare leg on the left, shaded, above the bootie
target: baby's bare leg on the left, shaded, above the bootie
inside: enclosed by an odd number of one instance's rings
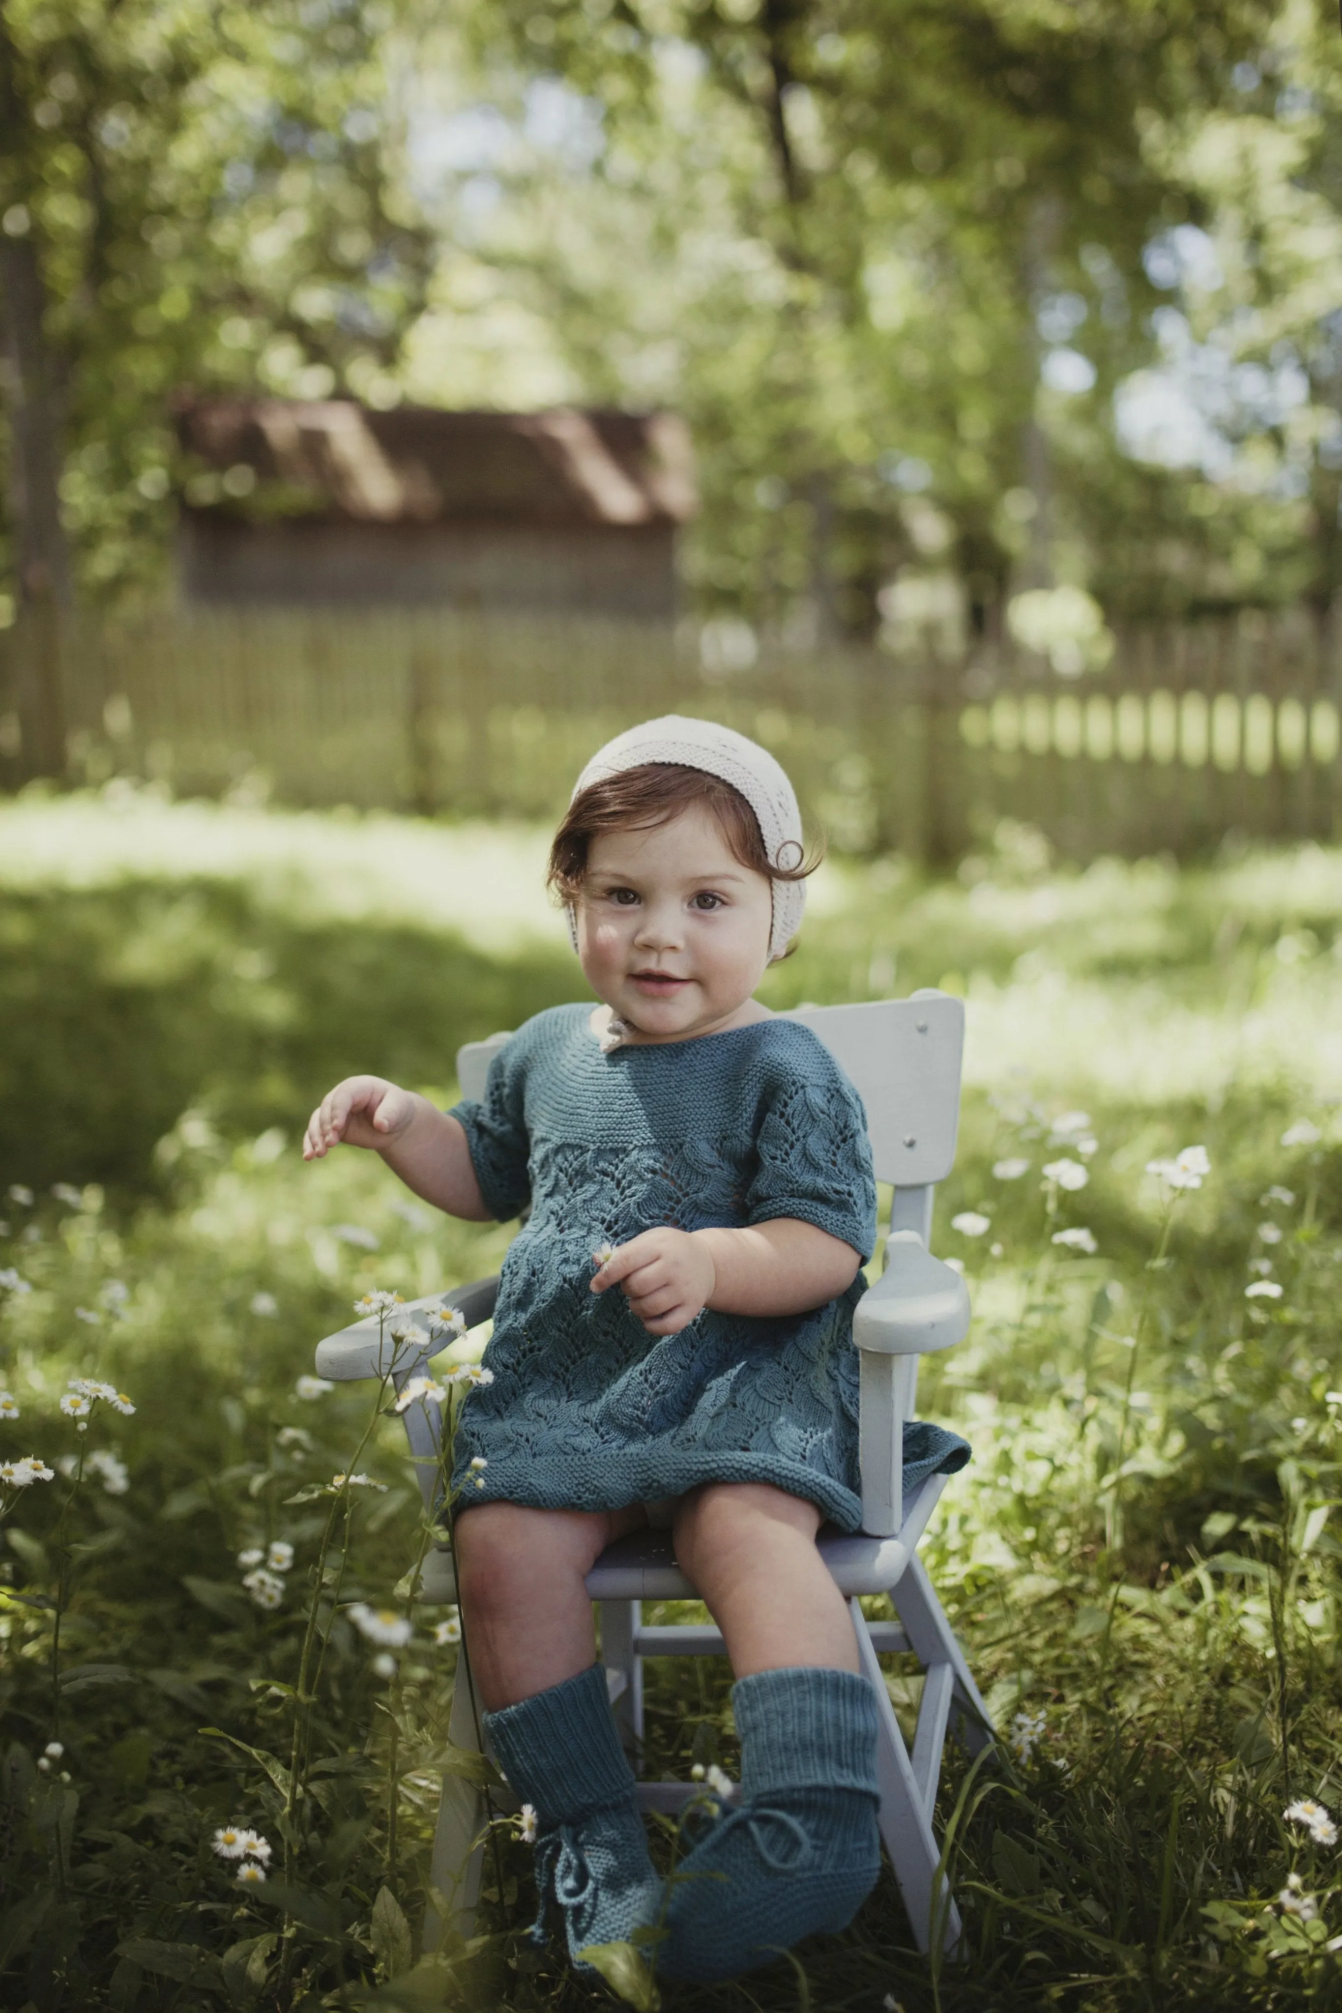
[[[632,1510],[531,1510],[477,1504],[457,1518],[457,1594],[471,1675],[497,1713],[577,1677],[594,1661],[585,1576],[644,1522]]]

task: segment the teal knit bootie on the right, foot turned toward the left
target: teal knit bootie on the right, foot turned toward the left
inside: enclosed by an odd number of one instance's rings
[[[851,1671],[761,1671],[732,1687],[740,1806],[680,1862],[658,1977],[712,1985],[839,1930],[875,1886],[875,1701]]]

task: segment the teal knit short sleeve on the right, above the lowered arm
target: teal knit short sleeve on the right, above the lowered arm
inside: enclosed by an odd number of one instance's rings
[[[797,1216],[861,1254],[875,1250],[875,1176],[861,1099],[819,1043],[767,1093],[746,1218]]]

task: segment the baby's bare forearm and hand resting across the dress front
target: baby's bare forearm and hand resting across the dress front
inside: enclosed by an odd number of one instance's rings
[[[624,1286],[650,1335],[678,1335],[704,1306],[805,1314],[851,1286],[859,1264],[843,1238],[779,1216],[748,1230],[644,1230],[606,1260],[592,1290]]]

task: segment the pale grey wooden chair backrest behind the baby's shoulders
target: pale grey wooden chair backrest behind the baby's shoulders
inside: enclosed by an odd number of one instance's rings
[[[797,1006],[783,1015],[817,1035],[867,1109],[877,1182],[930,1188],[956,1159],[964,1000],[913,992],[907,1000]],[[457,1051],[463,1097],[483,1097],[489,1065],[507,1041],[469,1041]]]

